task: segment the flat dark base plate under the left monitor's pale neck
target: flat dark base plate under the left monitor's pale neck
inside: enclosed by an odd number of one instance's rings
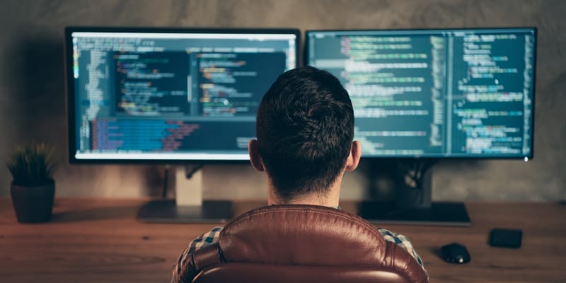
[[[180,205],[175,200],[151,200],[139,209],[144,223],[226,223],[233,216],[232,202],[203,200],[202,205]]]

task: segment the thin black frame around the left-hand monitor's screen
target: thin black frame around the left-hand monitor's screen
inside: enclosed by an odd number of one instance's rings
[[[64,29],[65,103],[67,104],[67,154],[71,164],[186,164],[186,163],[249,163],[248,159],[167,159],[167,158],[76,158],[75,81],[73,77],[72,33],[233,33],[233,34],[289,34],[295,35],[296,67],[301,65],[301,31],[297,28],[160,28],[160,27],[89,27],[69,26]]]

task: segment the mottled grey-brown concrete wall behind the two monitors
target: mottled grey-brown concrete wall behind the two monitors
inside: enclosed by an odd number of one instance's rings
[[[560,0],[202,0],[2,1],[0,161],[14,144],[56,147],[58,196],[157,195],[163,166],[69,166],[63,78],[66,25],[291,27],[307,29],[537,26],[535,158],[443,161],[434,167],[436,200],[566,199],[566,1]],[[364,167],[365,166],[365,167]],[[347,175],[343,195],[369,195],[369,175]],[[265,180],[248,166],[209,166],[204,197],[262,198]],[[0,195],[11,180],[0,166]]]

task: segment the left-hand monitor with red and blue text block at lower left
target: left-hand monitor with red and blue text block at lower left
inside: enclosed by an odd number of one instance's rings
[[[299,30],[67,28],[71,162],[247,161]]]

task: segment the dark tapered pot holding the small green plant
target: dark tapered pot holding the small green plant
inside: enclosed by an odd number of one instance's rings
[[[51,219],[55,182],[37,186],[10,186],[13,209],[20,223],[40,223]]]

